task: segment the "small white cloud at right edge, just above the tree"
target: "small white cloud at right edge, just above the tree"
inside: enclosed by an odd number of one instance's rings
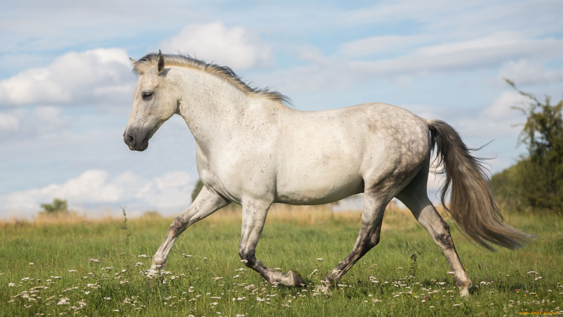
[[[508,78],[517,85],[549,84],[563,81],[563,71],[547,70],[541,63],[521,59],[508,61],[501,69],[501,76]]]

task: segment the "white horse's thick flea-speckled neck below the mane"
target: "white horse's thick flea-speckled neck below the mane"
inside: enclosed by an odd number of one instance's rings
[[[200,147],[221,142],[236,133],[248,96],[226,80],[195,69],[181,69],[176,85],[182,99],[178,113]]]

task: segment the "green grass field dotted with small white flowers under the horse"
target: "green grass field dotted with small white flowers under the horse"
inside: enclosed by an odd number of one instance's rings
[[[162,272],[164,284],[147,283],[140,271],[150,266],[172,219],[146,215],[129,219],[127,229],[123,219],[76,215],[0,223],[0,316],[563,314],[560,215],[510,215],[513,226],[539,236],[516,252],[482,251],[452,225],[458,253],[477,286],[461,298],[430,235],[407,211],[388,210],[381,243],[331,296],[316,293],[314,285],[350,252],[359,219],[358,212],[332,213],[326,206],[282,205],[270,212],[257,258],[284,272],[300,272],[309,287],[299,289],[266,284],[240,262],[236,209],[220,210],[180,236]]]

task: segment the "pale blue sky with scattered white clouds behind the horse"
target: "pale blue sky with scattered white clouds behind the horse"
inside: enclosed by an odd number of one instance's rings
[[[20,1],[0,18],[0,218],[54,197],[88,213],[181,212],[198,179],[175,116],[123,143],[128,57],[185,52],[315,111],[385,102],[455,126],[500,171],[524,153],[522,90],[559,100],[561,1]],[[436,182],[430,184],[436,187]]]

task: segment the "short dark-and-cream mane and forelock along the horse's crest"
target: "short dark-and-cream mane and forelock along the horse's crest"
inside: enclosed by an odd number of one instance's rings
[[[269,99],[274,102],[291,104],[291,99],[280,94],[278,91],[270,91],[267,87],[264,89],[258,89],[248,86],[248,84],[240,79],[240,77],[235,74],[233,69],[230,67],[211,63],[208,64],[205,63],[205,61],[195,59],[189,55],[162,54],[162,56],[164,57],[164,65],[199,69],[200,71],[208,72],[214,74],[215,76],[224,78],[247,95]],[[157,61],[158,54],[149,53],[133,64],[133,72],[137,75],[142,74],[150,67],[153,67]]]

